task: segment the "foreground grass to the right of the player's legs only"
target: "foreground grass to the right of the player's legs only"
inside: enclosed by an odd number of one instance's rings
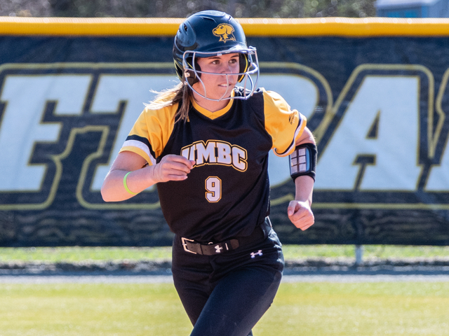
[[[283,283],[255,330],[292,336],[449,335],[448,290],[449,283]]]

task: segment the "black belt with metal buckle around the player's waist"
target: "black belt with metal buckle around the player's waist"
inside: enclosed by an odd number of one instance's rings
[[[264,225],[264,223],[262,223]],[[248,237],[235,237],[220,243],[201,244],[192,239],[181,237],[182,247],[185,251],[201,255],[217,255],[227,251],[235,250],[239,246],[253,243],[255,241],[262,241],[265,238],[264,230],[261,226],[257,226],[254,232]]]

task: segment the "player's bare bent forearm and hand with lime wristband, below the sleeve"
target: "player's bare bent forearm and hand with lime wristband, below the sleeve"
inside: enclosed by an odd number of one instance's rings
[[[128,200],[155,183],[183,181],[187,179],[192,162],[180,155],[166,155],[155,165],[146,165],[147,161],[137,153],[123,151],[117,155],[101,188],[105,202]],[[128,174],[129,172],[129,174]],[[126,186],[123,178],[126,176]]]

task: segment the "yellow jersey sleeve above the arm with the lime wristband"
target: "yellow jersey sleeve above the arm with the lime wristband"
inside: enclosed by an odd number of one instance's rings
[[[144,158],[149,165],[156,164],[175,125],[178,104],[150,109],[146,107],[135,121],[120,152],[131,151]]]

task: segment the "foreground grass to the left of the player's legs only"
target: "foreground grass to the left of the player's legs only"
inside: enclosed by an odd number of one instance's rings
[[[189,335],[190,329],[169,284],[7,284],[0,289],[1,336]]]

